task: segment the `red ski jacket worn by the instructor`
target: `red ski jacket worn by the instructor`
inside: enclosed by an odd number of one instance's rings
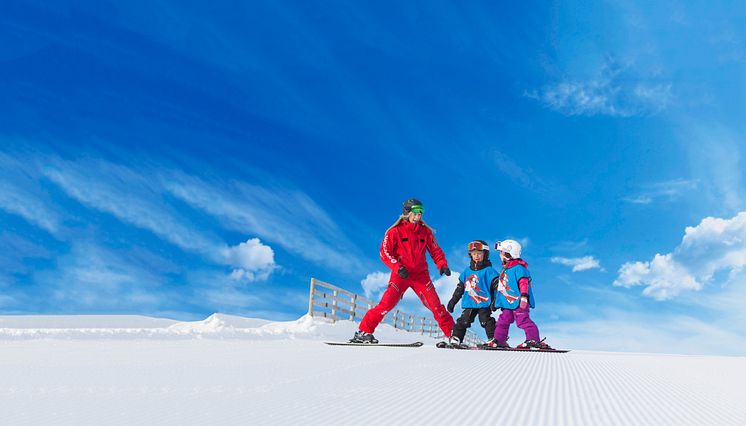
[[[386,231],[381,243],[381,260],[393,272],[404,265],[410,274],[427,273],[425,249],[430,252],[438,270],[448,266],[433,231],[421,222],[402,220]]]

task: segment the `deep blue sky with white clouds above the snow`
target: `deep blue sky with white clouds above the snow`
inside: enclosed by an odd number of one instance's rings
[[[16,2],[0,312],[376,298],[414,196],[454,270],[524,243],[544,334],[742,355],[744,28],[739,2]]]

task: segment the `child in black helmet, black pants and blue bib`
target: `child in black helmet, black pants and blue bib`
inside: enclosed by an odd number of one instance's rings
[[[490,262],[490,248],[487,242],[472,241],[469,243],[468,251],[471,263],[461,274],[453,297],[448,302],[448,312],[453,313],[456,303],[466,292],[467,296],[461,300],[464,312],[456,320],[450,339],[450,344],[455,347],[461,347],[466,329],[471,327],[471,323],[477,316],[479,316],[479,324],[487,332],[487,339],[492,340],[495,334],[495,319],[492,318],[492,311],[490,311],[492,304],[490,289],[496,285],[499,275]]]

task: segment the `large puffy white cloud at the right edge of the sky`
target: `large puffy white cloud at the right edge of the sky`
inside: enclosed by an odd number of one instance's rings
[[[671,253],[648,262],[627,262],[615,286],[645,286],[643,294],[658,300],[701,290],[716,273],[738,274],[746,265],[746,212],[733,218],[708,217],[687,227],[681,244]],[[721,283],[723,284],[723,283]]]

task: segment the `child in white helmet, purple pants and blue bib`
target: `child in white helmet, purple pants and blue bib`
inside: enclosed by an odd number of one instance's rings
[[[498,241],[495,249],[500,251],[503,271],[495,289],[494,307],[502,308],[502,313],[497,319],[495,339],[488,345],[509,348],[508,329],[515,321],[526,333],[526,341],[518,345],[518,349],[551,349],[539,339],[539,328],[529,316],[530,309],[534,307],[534,293],[528,264],[521,259],[521,245],[514,240]]]

